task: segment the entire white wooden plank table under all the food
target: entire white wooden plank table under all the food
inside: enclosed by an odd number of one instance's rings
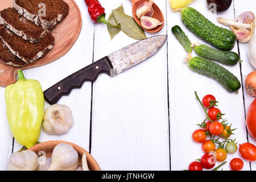
[[[71,73],[91,64],[105,55],[136,42],[122,32],[110,39],[105,24],[94,24],[82,0],[76,0],[82,14],[82,30],[75,46],[61,59],[40,68],[24,71],[27,78],[39,80],[43,90]],[[101,75],[93,84],[85,82],[81,89],[73,90],[59,104],[71,107],[74,126],[65,135],[42,133],[40,142],[67,140],[88,150],[102,170],[182,170],[203,155],[201,144],[194,143],[191,135],[197,123],[205,118],[194,91],[200,98],[213,94],[220,101],[219,108],[225,118],[236,127],[238,143],[255,140],[246,132],[245,113],[253,97],[245,89],[239,94],[228,93],[216,81],[192,72],[184,63],[183,47],[172,35],[171,28],[178,24],[193,43],[201,42],[183,25],[180,13],[171,10],[168,0],[154,1],[162,9],[166,24],[157,35],[167,34],[168,41],[160,51],[147,61],[110,78]],[[131,15],[129,0],[101,1],[107,17],[112,9],[123,4]],[[234,19],[243,11],[256,13],[255,0],[234,0],[229,10],[218,15],[210,13],[205,0],[195,0],[192,7],[213,23],[217,16]],[[228,27],[226,27],[228,28]],[[156,34],[147,34],[147,37]],[[247,57],[248,44],[238,43],[233,51],[240,52],[240,63],[226,67],[244,85],[245,77],[254,70]],[[6,118],[5,88],[0,88],[0,169],[4,170],[10,155],[22,146],[11,135]],[[46,102],[46,107],[49,106]],[[234,138],[234,137],[233,137]],[[229,170],[232,158],[228,155]],[[256,170],[256,163],[245,162],[243,169]],[[220,164],[220,163],[218,163]]]

